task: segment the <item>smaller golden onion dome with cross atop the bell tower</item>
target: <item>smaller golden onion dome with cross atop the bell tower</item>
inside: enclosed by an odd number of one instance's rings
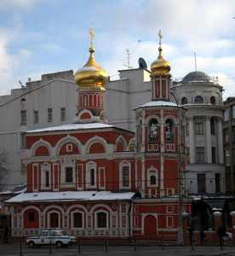
[[[151,64],[151,71],[154,74],[166,74],[170,71],[170,65],[169,62],[163,59],[162,55],[162,47],[161,47],[161,38],[163,38],[161,31],[158,33],[159,36],[159,55],[158,59],[156,61],[153,61]]]

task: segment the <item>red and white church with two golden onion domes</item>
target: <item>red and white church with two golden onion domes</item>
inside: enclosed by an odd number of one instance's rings
[[[74,123],[26,132],[27,191],[4,205],[11,215],[11,235],[60,229],[87,239],[176,241],[179,205],[182,212],[191,212],[186,110],[170,102],[170,66],[163,59],[161,37],[151,66],[152,100],[142,106],[136,102],[135,133],[107,124],[103,99],[108,76],[95,62],[92,37],[91,32],[89,61],[75,74]]]

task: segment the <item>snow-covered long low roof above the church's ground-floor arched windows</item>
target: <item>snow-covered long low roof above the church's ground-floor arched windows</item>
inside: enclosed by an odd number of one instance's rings
[[[6,203],[47,202],[47,201],[115,201],[130,200],[134,192],[112,193],[111,191],[62,191],[22,193]]]

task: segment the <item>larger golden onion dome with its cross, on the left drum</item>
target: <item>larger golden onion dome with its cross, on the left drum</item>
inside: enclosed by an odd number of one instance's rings
[[[91,30],[89,31],[91,35],[91,47],[89,48],[89,61],[75,73],[75,82],[79,85],[79,89],[100,89],[105,90],[103,86],[107,83],[108,75],[105,70],[103,70],[96,62],[93,53],[95,49],[93,48],[93,37],[95,33]]]

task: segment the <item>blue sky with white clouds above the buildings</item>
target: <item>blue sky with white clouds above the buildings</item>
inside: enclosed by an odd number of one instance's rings
[[[95,32],[95,61],[111,79],[140,57],[150,68],[163,57],[173,79],[197,69],[218,77],[224,96],[235,94],[234,0],[0,0],[0,95],[19,80],[77,70],[89,57]]]

